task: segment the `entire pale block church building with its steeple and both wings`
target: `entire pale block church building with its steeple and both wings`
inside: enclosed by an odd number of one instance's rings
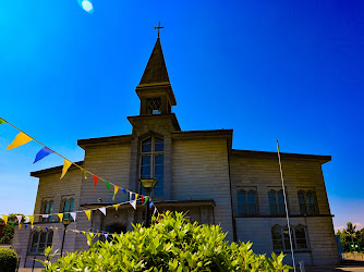
[[[153,201],[159,212],[187,212],[191,221],[220,224],[230,242],[252,242],[257,254],[287,254],[290,244],[277,153],[232,148],[232,129],[182,131],[172,108],[177,100],[157,38],[136,95],[139,115],[129,116],[132,134],[78,139],[85,158],[77,164],[120,187],[142,193],[141,178],[157,178]],[[339,262],[336,238],[321,165],[330,156],[281,153],[295,261],[305,265]],[[71,166],[60,182],[62,166],[32,172],[39,178],[34,214],[38,227],[16,230],[13,248],[21,267],[44,258],[47,246],[61,248],[63,227],[52,213],[107,207],[129,200],[106,186],[85,180]],[[132,231],[131,223],[144,222],[142,202],[104,215],[93,211],[90,220],[78,213],[69,228],[107,232]],[[52,228],[50,228],[50,226]],[[66,233],[63,251],[87,248],[85,235]]]

